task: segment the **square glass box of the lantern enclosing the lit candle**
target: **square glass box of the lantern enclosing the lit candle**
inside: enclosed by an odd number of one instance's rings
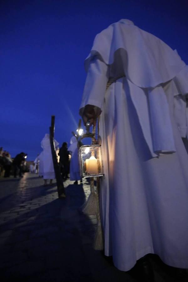
[[[102,176],[101,145],[85,145],[79,150],[82,177]]]

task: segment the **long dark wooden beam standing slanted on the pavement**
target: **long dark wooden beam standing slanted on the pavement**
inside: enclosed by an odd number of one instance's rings
[[[65,198],[65,188],[63,185],[63,180],[60,173],[60,167],[57,161],[57,155],[55,151],[55,145],[54,145],[54,131],[55,131],[55,116],[51,116],[51,126],[50,126],[50,146],[51,146],[51,152],[52,152],[52,160],[54,165],[54,171],[55,171],[55,178],[57,183],[57,192],[59,198]]]

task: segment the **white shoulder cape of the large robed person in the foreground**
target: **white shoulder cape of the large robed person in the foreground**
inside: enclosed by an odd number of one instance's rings
[[[96,55],[107,65],[114,60],[123,62],[127,79],[143,88],[170,81],[185,67],[177,52],[128,19],[121,19],[97,34],[85,60],[86,71]]]

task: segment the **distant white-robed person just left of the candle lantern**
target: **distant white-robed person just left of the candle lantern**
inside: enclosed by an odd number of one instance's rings
[[[77,139],[75,136],[72,136],[70,139],[70,146],[68,148],[69,153],[71,154],[70,159],[70,180],[75,180],[74,184],[78,184],[80,180],[80,168],[78,161],[78,147]]]

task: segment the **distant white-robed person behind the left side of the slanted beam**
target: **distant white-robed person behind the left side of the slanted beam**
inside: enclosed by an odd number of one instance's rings
[[[54,140],[55,148],[59,143]],[[52,180],[55,179],[54,165],[52,160],[52,152],[50,147],[50,134],[45,134],[41,141],[41,147],[43,148],[43,179],[44,185],[47,185],[47,180],[50,179],[50,184]]]

